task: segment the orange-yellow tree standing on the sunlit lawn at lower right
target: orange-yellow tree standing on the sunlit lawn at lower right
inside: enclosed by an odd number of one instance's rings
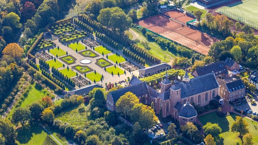
[[[233,122],[231,130],[232,132],[239,132],[239,136],[243,136],[249,132],[247,126],[248,123],[242,117],[236,116],[236,121]]]

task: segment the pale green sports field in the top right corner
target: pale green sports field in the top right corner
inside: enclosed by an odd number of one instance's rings
[[[257,8],[257,0],[245,0],[224,6],[218,9],[216,12],[258,29]]]

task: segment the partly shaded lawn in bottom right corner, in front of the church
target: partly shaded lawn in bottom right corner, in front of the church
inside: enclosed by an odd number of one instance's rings
[[[230,115],[224,118],[220,118],[216,115],[216,112],[209,113],[207,115],[199,117],[200,121],[203,125],[205,125],[207,122],[212,123],[218,123],[219,126],[222,129],[222,133],[220,136],[224,139],[223,144],[233,145],[233,144],[241,144],[242,141],[238,137],[239,133],[231,132],[231,125],[235,121],[236,115]],[[252,134],[253,142],[254,144],[258,144],[258,134],[256,128],[258,127],[258,123],[255,121],[252,121],[250,119],[244,118],[245,121],[247,121],[249,132]]]

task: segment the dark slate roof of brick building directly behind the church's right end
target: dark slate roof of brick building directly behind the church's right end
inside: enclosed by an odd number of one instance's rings
[[[217,63],[212,63],[212,64],[209,64],[209,65],[206,65],[206,66],[203,66],[203,67],[200,67],[200,68],[196,69],[196,72],[197,72],[198,76],[203,76],[203,75],[212,73],[212,71],[214,73],[221,71],[221,73],[215,74],[216,76],[220,75],[220,74],[227,74],[228,73],[228,70],[227,70],[226,65],[224,64],[224,61],[220,61],[220,62],[217,62]]]

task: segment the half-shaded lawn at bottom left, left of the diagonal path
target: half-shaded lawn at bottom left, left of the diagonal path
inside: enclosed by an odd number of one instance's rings
[[[38,124],[31,124],[30,128],[19,128],[17,140],[21,144],[42,144],[47,137],[47,133]]]

